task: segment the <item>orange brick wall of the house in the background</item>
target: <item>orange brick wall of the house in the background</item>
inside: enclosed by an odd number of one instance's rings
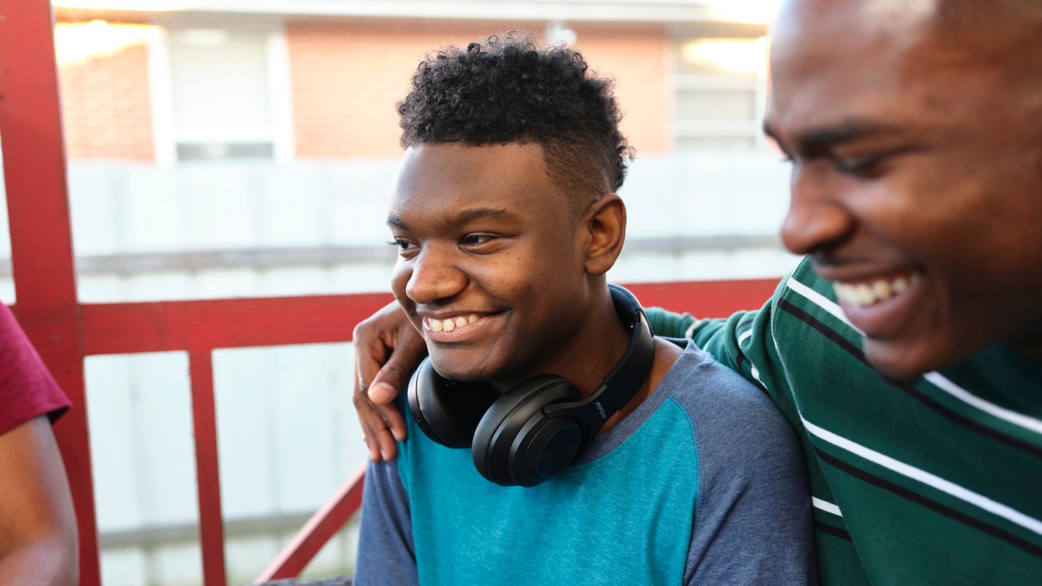
[[[354,20],[287,25],[296,153],[300,158],[397,157],[394,104],[425,51],[543,22]],[[669,36],[664,27],[574,25],[594,70],[616,80],[622,130],[639,155],[670,149]],[[60,68],[72,159],[153,160],[148,48],[131,45]]]

